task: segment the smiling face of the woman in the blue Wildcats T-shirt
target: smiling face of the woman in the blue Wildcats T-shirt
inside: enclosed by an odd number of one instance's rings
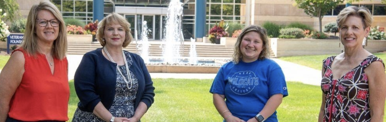
[[[248,32],[242,37],[240,44],[240,52],[243,62],[253,62],[259,58],[263,49],[263,40],[257,32]]]

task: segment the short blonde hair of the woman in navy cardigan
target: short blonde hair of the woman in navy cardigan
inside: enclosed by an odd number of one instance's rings
[[[125,17],[122,17],[118,13],[110,13],[105,18],[103,18],[98,24],[97,40],[100,42],[100,45],[102,45],[102,47],[105,47],[106,45],[106,41],[103,40],[103,36],[105,35],[104,31],[105,31],[106,25],[113,25],[113,24],[119,24],[125,28],[126,36],[122,47],[127,47],[127,45],[129,45],[133,40],[133,36],[130,33],[131,31],[130,23],[127,22]]]

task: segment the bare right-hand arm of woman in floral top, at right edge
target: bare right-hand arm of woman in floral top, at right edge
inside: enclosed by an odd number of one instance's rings
[[[381,62],[372,62],[365,69],[369,82],[370,122],[383,122],[386,99],[386,74]]]

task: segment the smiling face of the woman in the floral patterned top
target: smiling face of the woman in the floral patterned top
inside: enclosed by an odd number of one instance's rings
[[[347,17],[339,28],[340,41],[345,48],[362,47],[363,38],[367,37],[370,31],[370,27],[363,28],[362,18],[357,16]]]

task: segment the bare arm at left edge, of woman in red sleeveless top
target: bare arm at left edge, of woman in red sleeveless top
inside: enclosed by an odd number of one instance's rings
[[[14,52],[0,74],[0,122],[8,117],[9,102],[19,87],[24,74],[24,54]]]

